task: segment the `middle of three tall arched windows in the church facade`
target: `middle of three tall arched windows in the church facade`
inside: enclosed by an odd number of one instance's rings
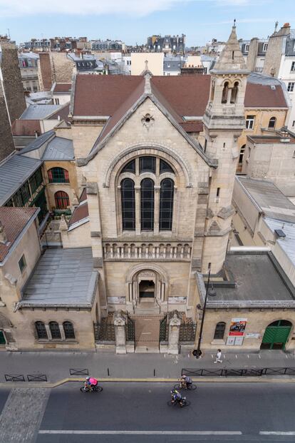
[[[144,178],[140,185],[141,230],[154,229],[154,203],[154,182],[150,178]]]

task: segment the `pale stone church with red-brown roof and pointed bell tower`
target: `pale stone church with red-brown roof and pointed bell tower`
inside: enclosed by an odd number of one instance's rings
[[[68,308],[65,300],[57,305],[56,314],[52,313],[54,301],[50,305],[44,300],[44,307],[52,319],[58,317],[61,331],[63,322],[75,317],[76,337],[80,334],[83,343],[77,340],[68,348],[104,347],[113,341],[117,352],[134,352],[134,342],[141,341],[143,349],[148,350],[150,342],[152,349],[157,346],[160,351],[175,353],[181,341],[179,327],[182,342],[194,345],[194,328],[197,323],[198,334],[205,297],[203,276],[210,270],[217,301],[216,305],[208,301],[205,347],[234,345],[226,342],[232,317],[249,317],[248,331],[262,336],[268,323],[281,318],[277,310],[284,310],[284,302],[294,309],[295,299],[279,277],[273,285],[279,287],[276,295],[281,299],[276,303],[271,297],[276,305],[258,300],[255,288],[254,293],[245,290],[246,295],[232,292],[239,287],[234,272],[245,269],[249,282],[258,262],[263,261],[265,273],[276,275],[268,255],[262,260],[257,255],[227,259],[239,158],[237,139],[244,128],[249,75],[235,26],[210,76],[152,76],[147,65],[141,76],[76,76],[73,80],[71,136],[81,198],[69,223],[62,220],[60,228],[63,251],[70,251],[71,260],[79,257],[76,272],[81,284],[81,250],[88,251],[88,265],[92,255],[93,270],[85,273],[94,273],[93,285],[91,294],[89,287],[86,290],[89,315],[83,314],[83,300],[75,305],[71,295]],[[50,252],[49,264],[57,260],[53,250]],[[62,253],[58,254],[62,266]],[[45,259],[41,260],[44,263]],[[239,269],[234,269],[235,263]],[[57,272],[56,268],[51,271]],[[62,287],[62,280],[58,282]],[[269,297],[271,285],[269,282],[259,293]],[[229,290],[224,292],[224,287]],[[33,315],[38,320],[38,309],[42,310],[36,288],[38,281],[29,291],[25,287],[23,300],[16,307],[21,312],[29,312],[31,307],[30,321]],[[71,290],[75,291],[73,285]],[[262,307],[267,310],[265,325],[260,317]],[[75,310],[74,316],[71,310]],[[46,323],[46,313],[39,317]],[[157,327],[147,330],[146,319]],[[185,337],[189,326],[195,332]],[[54,338],[50,329],[44,325],[45,341]],[[143,335],[150,338],[143,340]],[[29,347],[42,347],[38,338],[37,334],[35,344],[31,342]],[[248,347],[257,349],[260,342],[256,339],[252,337]],[[235,345],[242,347],[242,342]]]

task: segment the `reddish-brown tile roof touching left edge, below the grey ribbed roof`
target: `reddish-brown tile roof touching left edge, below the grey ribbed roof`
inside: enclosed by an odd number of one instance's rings
[[[4,226],[6,234],[6,245],[0,243],[0,262],[3,262],[9,253],[11,246],[26,227],[33,216],[38,213],[39,208],[0,208],[0,222]]]

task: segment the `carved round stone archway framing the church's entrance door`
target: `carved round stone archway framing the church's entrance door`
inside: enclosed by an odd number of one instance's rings
[[[169,277],[158,265],[143,263],[135,265],[128,272],[128,301],[135,305],[140,298],[140,282],[152,282],[154,297],[157,303],[167,302]]]

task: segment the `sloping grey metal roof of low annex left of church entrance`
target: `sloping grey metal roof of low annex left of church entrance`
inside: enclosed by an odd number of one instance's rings
[[[48,249],[24,287],[19,307],[90,308],[98,277],[91,248]]]

